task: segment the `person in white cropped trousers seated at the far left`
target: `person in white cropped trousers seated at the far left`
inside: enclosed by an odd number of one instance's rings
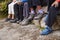
[[[14,20],[14,4],[16,4],[16,0],[13,0],[9,5],[8,5],[8,18],[6,21],[9,20]],[[11,17],[12,16],[12,17]]]

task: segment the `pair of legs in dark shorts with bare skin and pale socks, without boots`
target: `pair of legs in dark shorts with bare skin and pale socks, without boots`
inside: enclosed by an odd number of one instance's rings
[[[36,9],[37,9],[37,12],[38,13],[41,13],[42,11],[40,10],[41,9],[41,5],[42,5],[42,0],[30,0],[29,1],[29,5],[30,5],[30,12],[31,13],[34,13],[34,8],[33,6],[36,6]]]

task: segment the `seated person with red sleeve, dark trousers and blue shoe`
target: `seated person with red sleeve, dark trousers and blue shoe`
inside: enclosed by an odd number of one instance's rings
[[[40,32],[41,35],[48,35],[52,32],[52,25],[54,24],[56,20],[56,14],[58,13],[58,10],[60,9],[60,0],[49,0],[48,2],[48,16],[46,21],[45,29]]]

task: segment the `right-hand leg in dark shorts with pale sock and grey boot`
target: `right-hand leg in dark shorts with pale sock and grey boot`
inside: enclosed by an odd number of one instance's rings
[[[37,14],[36,14],[36,16],[34,17],[34,19],[37,19],[37,20],[39,20],[41,17],[42,17],[42,15],[43,15],[43,10],[42,10],[42,0],[37,0],[36,1],[36,9],[37,9]]]

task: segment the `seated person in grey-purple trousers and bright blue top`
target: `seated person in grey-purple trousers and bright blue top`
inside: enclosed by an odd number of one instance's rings
[[[21,0],[23,3],[23,21],[28,18],[29,16],[29,6],[28,6],[28,0]],[[17,21],[19,23],[19,21]]]

